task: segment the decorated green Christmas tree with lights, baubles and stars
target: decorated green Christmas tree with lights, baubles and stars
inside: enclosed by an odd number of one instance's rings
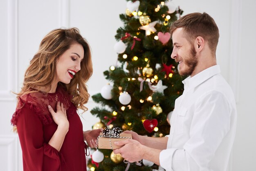
[[[93,129],[120,127],[154,137],[169,134],[171,111],[183,92],[184,79],[171,59],[169,28],[181,14],[182,10],[171,1],[127,2],[126,13],[120,14],[124,26],[115,35],[119,65],[110,66],[103,73],[110,85],[92,96],[102,105],[91,110],[101,120]],[[123,171],[128,165],[111,149],[98,149],[92,159],[88,161],[91,170]],[[129,169],[158,169],[146,160],[137,164],[130,164]]]

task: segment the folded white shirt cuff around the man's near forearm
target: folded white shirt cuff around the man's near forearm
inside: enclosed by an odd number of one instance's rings
[[[173,153],[177,149],[165,149],[160,152],[159,162],[160,166],[164,168],[166,171],[173,171],[172,163],[173,163]]]

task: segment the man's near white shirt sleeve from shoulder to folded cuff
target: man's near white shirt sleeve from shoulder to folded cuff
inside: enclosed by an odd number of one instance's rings
[[[183,149],[165,149],[159,156],[166,171],[204,171],[230,129],[230,104],[217,91],[195,102],[189,139]]]

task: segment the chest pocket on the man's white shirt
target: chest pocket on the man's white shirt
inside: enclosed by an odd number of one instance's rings
[[[175,122],[175,134],[182,134],[185,127],[185,118],[187,114],[186,107],[180,107],[180,110],[177,111],[177,118]]]

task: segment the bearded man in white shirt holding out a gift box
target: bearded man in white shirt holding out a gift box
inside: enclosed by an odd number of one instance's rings
[[[149,160],[167,171],[226,171],[236,132],[236,103],[216,65],[219,31],[207,13],[191,13],[171,26],[180,75],[190,75],[176,99],[170,135],[119,141],[129,162]]]

